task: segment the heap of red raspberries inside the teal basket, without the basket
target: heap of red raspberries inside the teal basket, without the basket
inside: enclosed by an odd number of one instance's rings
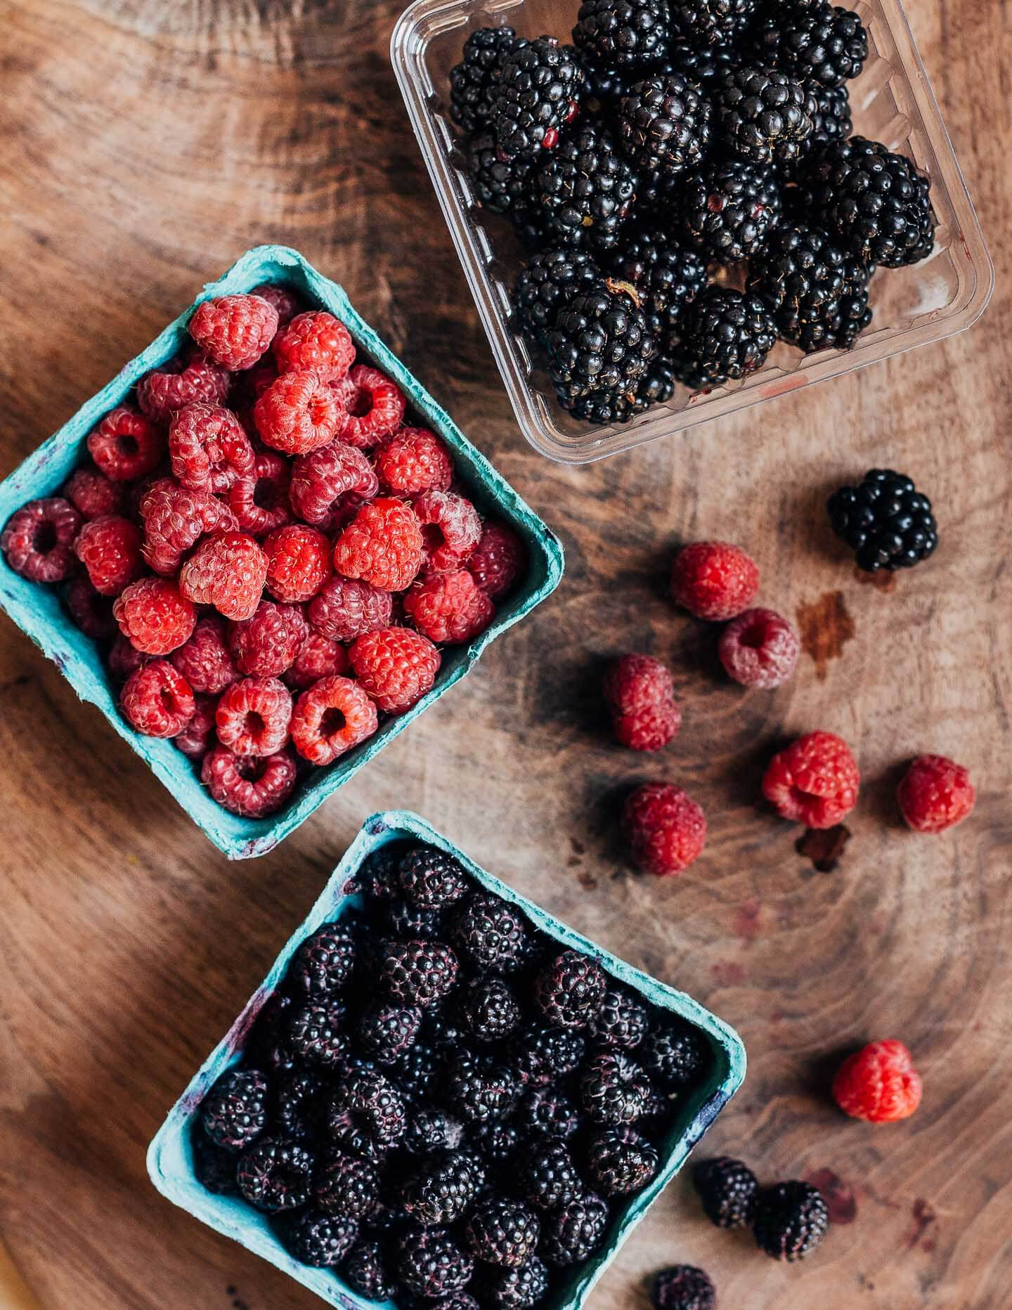
[[[262,286],[204,301],[190,337],[0,549],[65,583],[130,723],[259,817],[432,688],[440,646],[487,627],[525,549],[334,314]]]

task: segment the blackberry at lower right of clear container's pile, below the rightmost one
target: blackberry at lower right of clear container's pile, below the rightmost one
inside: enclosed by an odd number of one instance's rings
[[[872,321],[871,275],[867,265],[833,245],[823,232],[789,225],[774,232],[748,290],[763,301],[784,341],[806,354],[850,350]]]

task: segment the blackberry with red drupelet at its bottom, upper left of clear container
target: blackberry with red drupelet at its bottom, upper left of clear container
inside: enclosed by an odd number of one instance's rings
[[[583,69],[555,37],[518,43],[503,59],[491,97],[491,128],[507,155],[550,151],[579,110]]]

